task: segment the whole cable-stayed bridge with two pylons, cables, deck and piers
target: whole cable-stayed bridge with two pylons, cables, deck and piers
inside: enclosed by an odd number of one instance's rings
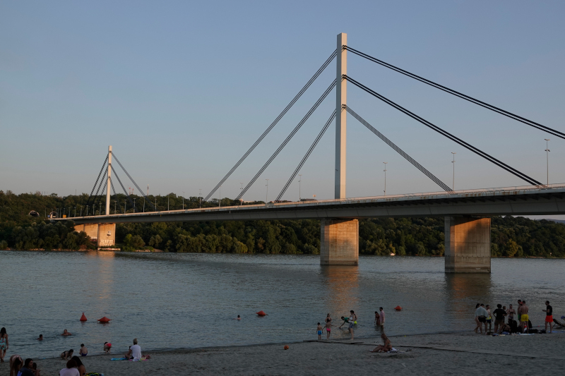
[[[268,126],[266,131],[254,142],[241,159],[232,167],[232,169],[220,180],[218,185],[210,191],[204,200],[210,199],[218,188],[222,186],[237,167],[244,162],[246,157],[251,154],[254,148],[265,138],[265,136],[276,126],[278,121],[285,116],[287,111],[302,94],[309,88],[311,83],[318,78],[322,71],[336,59],[336,79],[323,92],[321,97],[316,101],[313,107],[302,118],[298,125],[292,130],[290,135],[283,141],[268,161],[263,164],[257,174],[249,181],[236,200],[242,200],[247,190],[255,183],[259,176],[265,171],[273,159],[277,157],[281,150],[287,145],[290,139],[299,131],[302,125],[307,121],[309,116],[316,111],[319,104],[323,102],[328,94],[335,88],[336,102],[335,111],[331,114],[328,121],[324,124],[319,135],[316,137],[311,147],[304,154],[301,162],[290,176],[289,180],[279,193],[274,202],[267,202],[261,205],[236,205],[228,207],[204,207],[190,210],[167,210],[157,211],[147,200],[148,205],[153,207],[153,212],[138,212],[124,214],[110,214],[110,200],[112,191],[114,195],[116,191],[112,182],[112,174],[117,178],[121,188],[124,190],[126,197],[129,199],[129,193],[125,190],[123,183],[117,176],[117,171],[112,170],[112,160],[114,159],[126,176],[136,186],[138,192],[145,197],[143,190],[139,188],[137,183],[131,178],[124,166],[119,162],[115,154],[112,152],[112,146],[109,147],[102,169],[98,174],[98,178],[90,193],[88,205],[90,201],[94,206],[102,200],[99,195],[100,189],[102,193],[106,190],[105,198],[105,215],[91,215],[85,217],[73,217],[78,231],[85,231],[92,238],[97,239],[99,246],[113,245],[115,242],[115,226],[117,223],[126,222],[189,222],[189,221],[248,221],[257,219],[320,219],[321,220],[321,265],[357,265],[359,255],[359,219],[375,218],[375,217],[444,217],[445,218],[445,269],[446,272],[487,272],[491,271],[490,262],[490,218],[494,215],[537,215],[537,214],[565,214],[565,184],[542,184],[530,176],[523,174],[521,171],[514,169],[499,159],[479,150],[477,147],[470,145],[468,142],[461,140],[455,135],[444,131],[439,126],[423,119],[412,113],[410,110],[401,107],[399,104],[392,102],[390,99],[383,97],[378,92],[371,90],[369,87],[359,83],[354,78],[347,75],[347,52],[368,59],[381,66],[392,69],[410,78],[414,78],[422,83],[436,87],[439,90],[448,92],[456,97],[465,99],[468,102],[475,103],[480,107],[489,109],[503,116],[524,123],[540,131],[555,135],[559,138],[565,138],[565,133],[561,133],[552,128],[542,126],[509,111],[499,109],[490,104],[482,102],[478,99],[469,97],[448,87],[439,85],[418,75],[404,71],[401,68],[392,66],[384,61],[374,58],[362,51],[352,49],[347,46],[347,35],[342,33],[338,35],[337,49],[323,63],[321,68],[312,76],[302,90],[292,99],[290,104],[285,107],[283,112]],[[401,150],[391,140],[386,138],[381,132],[376,130],[371,124],[365,121],[353,109],[347,106],[347,83],[352,83],[360,90],[367,92],[376,99],[389,104],[391,107],[398,109],[415,121],[422,123],[424,126],[432,129],[444,137],[453,140],[474,152],[480,157],[487,159],[501,169],[506,170],[510,174],[521,178],[528,185],[508,188],[489,188],[478,190],[453,190],[444,182],[439,180],[432,172],[425,169],[424,166],[412,159],[410,155]],[[442,190],[431,193],[413,193],[408,195],[386,195],[368,198],[347,198],[346,195],[346,138],[347,138],[347,114],[350,114],[357,121],[386,142],[393,150],[398,152],[410,164],[415,166],[422,174],[430,178]],[[295,180],[300,169],[307,161],[312,150],[316,147],[319,140],[326,133],[328,127],[335,119],[335,198],[333,200],[318,201],[300,201],[300,202],[281,202],[290,183]],[[549,150],[547,150],[549,151]],[[104,172],[102,176],[102,172]],[[102,178],[100,178],[102,176]],[[96,193],[94,193],[97,187]],[[112,190],[112,191],[111,191]],[[133,204],[133,202],[131,202]],[[242,201],[243,203],[243,201]],[[94,214],[94,213],[93,213]],[[55,220],[68,220],[55,219]]]

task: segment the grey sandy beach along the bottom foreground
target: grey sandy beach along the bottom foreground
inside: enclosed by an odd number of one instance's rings
[[[316,336],[314,336],[316,339]],[[516,373],[561,375],[564,332],[530,336],[486,336],[465,333],[391,336],[405,353],[369,353],[379,337],[353,341],[302,341],[288,344],[226,346],[148,352],[144,362],[110,361],[87,356],[87,372],[122,375],[454,375]],[[143,347],[143,344],[141,344]],[[143,351],[143,353],[146,353]],[[64,360],[37,360],[43,376],[59,375]],[[9,375],[7,363],[0,375]]]

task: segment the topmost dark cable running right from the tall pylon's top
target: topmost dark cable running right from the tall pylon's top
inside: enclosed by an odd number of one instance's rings
[[[415,75],[414,73],[410,73],[408,71],[405,71],[403,69],[400,69],[396,66],[393,66],[392,64],[386,63],[382,60],[376,59],[373,56],[369,56],[367,54],[364,54],[361,51],[357,51],[357,49],[352,49],[351,47],[347,47],[344,46],[345,49],[347,49],[347,51],[351,51],[354,54],[357,54],[361,57],[364,57],[365,59],[369,60],[369,61],[373,61],[374,63],[378,63],[381,66],[384,66],[386,68],[392,69],[393,71],[396,71],[398,73],[401,73],[403,75],[407,75],[410,78],[414,78],[415,80],[418,80],[422,83],[425,83],[427,85],[430,85],[432,87],[436,87],[436,89],[439,90],[443,90],[444,92],[448,92],[451,95],[455,95],[456,97],[460,97],[461,99],[465,99],[468,102],[474,103],[474,104],[478,104],[480,107],[484,107],[485,109],[489,109],[491,111],[494,111],[498,114],[504,115],[509,117],[510,119],[514,119],[516,121],[520,121],[521,123],[527,124],[528,126],[532,126],[533,128],[537,128],[540,131],[545,131],[547,133],[550,133],[556,137],[559,138],[565,138],[565,133],[561,133],[559,131],[556,131],[555,129],[549,128],[547,126],[542,126],[542,124],[540,123],[536,123],[535,121],[531,121],[528,119],[523,118],[522,116],[518,116],[516,114],[512,114],[509,111],[505,111],[504,109],[500,109],[499,107],[494,107],[492,104],[488,104],[486,102],[482,102],[479,99],[475,99],[473,97],[470,97],[468,95],[465,95],[463,93],[457,92],[456,90],[450,89],[449,87],[445,87],[443,85],[439,85],[439,83],[434,83],[434,81],[431,80],[427,80],[426,78],[420,77],[419,75]]]

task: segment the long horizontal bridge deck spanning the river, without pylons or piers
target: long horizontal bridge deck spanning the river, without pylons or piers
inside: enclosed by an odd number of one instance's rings
[[[565,214],[565,183],[73,217],[77,224]]]

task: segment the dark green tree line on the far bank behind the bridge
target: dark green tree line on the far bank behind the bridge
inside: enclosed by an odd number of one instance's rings
[[[133,207],[124,207],[125,195],[112,197],[117,208],[121,200],[121,210],[133,212]],[[135,210],[143,210],[144,198],[135,195],[133,198],[136,198]],[[167,205],[170,210],[178,210],[183,204],[183,198],[174,194],[150,196],[148,200],[157,200],[158,210],[167,210]],[[0,190],[0,248],[94,248],[86,234],[73,231],[71,222],[52,223],[44,218],[46,212],[61,207],[66,211],[71,208],[71,216],[75,207],[77,210],[82,207],[85,214],[87,201],[85,194],[66,197],[40,193],[15,195]],[[201,202],[201,198],[184,198],[185,209],[219,204],[218,200]],[[239,202],[225,198],[221,204],[228,206]],[[40,217],[31,217],[30,210],[40,212]],[[95,214],[99,210],[95,208]],[[146,202],[145,210],[148,211]],[[317,254],[320,251],[320,222],[301,219],[118,224],[116,241],[122,250],[157,248],[181,253]],[[495,257],[565,257],[565,224],[524,217],[492,217],[491,241],[491,253]],[[359,253],[441,256],[444,250],[443,217],[359,221]]]

